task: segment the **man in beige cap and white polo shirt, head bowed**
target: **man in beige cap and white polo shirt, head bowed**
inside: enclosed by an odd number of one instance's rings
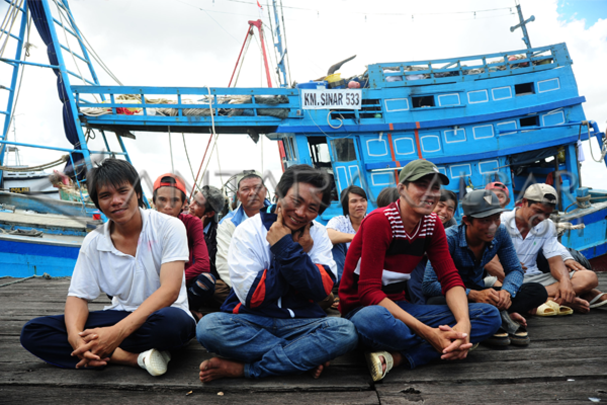
[[[550,214],[558,203],[557,192],[552,186],[538,183],[529,186],[523,196],[523,206],[501,215],[501,223],[512,237],[525,270],[523,283],[539,282],[548,291],[550,299],[580,312],[590,310],[586,296],[599,284],[597,275],[590,270],[569,272],[557,239],[557,231]],[[542,273],[537,267],[537,254],[543,249],[548,259],[550,273]]]

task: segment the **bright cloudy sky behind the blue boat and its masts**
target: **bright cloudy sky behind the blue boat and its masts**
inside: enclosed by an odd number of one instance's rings
[[[259,1],[262,19],[269,24],[266,0]],[[129,86],[227,86],[247,21],[260,18],[255,0],[71,0],[69,4],[93,49]],[[605,131],[607,80],[602,75],[607,66],[607,0],[521,0],[520,4],[524,18],[535,16],[527,25],[532,46],[567,44],[579,93],[587,100],[586,117]],[[6,7],[0,6],[2,15]],[[520,30],[509,30],[518,23],[514,0],[283,0],[283,16],[291,79],[297,82],[322,77],[329,66],[351,55],[357,56],[340,70],[346,77],[364,72],[365,65],[371,63],[524,48]],[[58,35],[64,41],[62,30]],[[269,30],[266,38],[271,41]],[[30,43],[35,47],[30,48],[28,60],[48,63],[46,48],[35,29]],[[76,46],[73,40],[69,43]],[[13,58],[14,47],[9,44],[4,56]],[[72,64],[69,53],[64,53],[66,56],[68,65]],[[83,64],[79,67],[86,69]],[[95,69],[101,84],[115,84],[100,67]],[[0,84],[9,84],[9,75],[5,67],[0,68]],[[259,45],[253,41],[237,84],[265,86],[264,77]],[[72,83],[81,84],[77,79]],[[71,147],[63,135],[61,104],[50,69],[25,69],[15,124],[18,141]],[[175,171],[186,182],[193,182],[192,172],[200,166],[208,134],[173,133],[171,145],[166,133],[135,135],[136,140],[125,139],[124,143],[138,171],[145,171],[152,181],[170,172],[172,149]],[[9,140],[12,138],[10,134]],[[110,146],[119,150],[112,137]],[[597,157],[596,141],[592,147]],[[90,140],[89,148],[103,149],[101,137]],[[607,189],[605,163],[592,162],[588,142],[583,149],[582,184]],[[22,148],[21,160],[38,165],[61,154]],[[277,145],[267,138],[256,145],[247,135],[220,135],[208,166],[211,184],[225,182],[226,175],[216,175],[220,169],[269,170],[277,180],[281,173]]]

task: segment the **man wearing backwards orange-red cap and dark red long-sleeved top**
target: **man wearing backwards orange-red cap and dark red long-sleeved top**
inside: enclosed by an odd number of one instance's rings
[[[166,173],[154,182],[154,205],[158,212],[177,217],[188,234],[189,260],[185,265],[188,303],[200,319],[198,309],[212,301],[215,277],[210,273],[209,253],[205,243],[205,226],[198,217],[182,213],[186,204],[186,188],[177,175]]]

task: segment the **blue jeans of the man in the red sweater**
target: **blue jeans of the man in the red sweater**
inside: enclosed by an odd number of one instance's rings
[[[456,324],[455,317],[447,305],[416,305],[406,301],[397,301],[396,304],[429,327]],[[468,304],[468,311],[472,324],[472,343],[484,341],[501,326],[500,311],[493,305]],[[412,369],[441,356],[429,342],[416,335],[381,305],[370,305],[358,312],[353,310],[347,318],[356,326],[362,346],[374,351],[399,352],[409,360]]]

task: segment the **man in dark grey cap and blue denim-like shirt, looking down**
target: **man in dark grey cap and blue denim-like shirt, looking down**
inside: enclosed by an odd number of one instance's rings
[[[486,342],[527,345],[526,321],[520,313],[543,304],[548,298],[546,288],[537,282],[523,284],[523,268],[512,239],[500,222],[500,214],[506,209],[501,208],[500,200],[492,191],[469,192],[461,206],[464,209],[461,225],[446,231],[449,253],[466,285],[468,301],[491,304],[502,311],[502,329]],[[506,277],[501,287],[485,288],[484,266],[495,256],[500,258]],[[427,304],[445,304],[441,285],[430,263],[426,266],[422,290],[428,297]]]

